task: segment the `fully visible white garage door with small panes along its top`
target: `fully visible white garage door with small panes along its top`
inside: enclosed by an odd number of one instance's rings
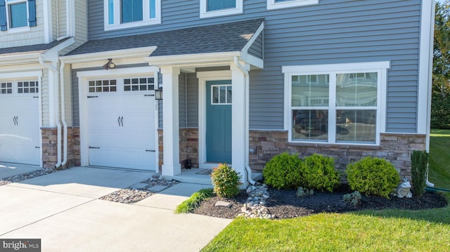
[[[88,84],[89,164],[155,170],[154,79]]]

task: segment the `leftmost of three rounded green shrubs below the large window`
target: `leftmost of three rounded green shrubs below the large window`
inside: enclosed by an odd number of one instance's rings
[[[264,183],[278,190],[293,189],[300,186],[300,166],[302,160],[297,154],[283,152],[273,157],[262,170]]]

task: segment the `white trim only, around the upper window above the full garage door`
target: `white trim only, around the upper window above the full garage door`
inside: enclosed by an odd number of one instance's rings
[[[143,25],[158,25],[161,23],[161,0],[155,0],[155,18],[150,18],[150,0],[143,0],[143,20],[120,23],[120,0],[114,0],[114,24],[109,24],[108,0],[103,0],[105,31],[140,27]]]

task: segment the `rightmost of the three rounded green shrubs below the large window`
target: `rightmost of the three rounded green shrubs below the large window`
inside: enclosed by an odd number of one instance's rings
[[[386,197],[397,187],[400,176],[385,159],[366,157],[347,166],[347,180],[352,190],[366,195]]]

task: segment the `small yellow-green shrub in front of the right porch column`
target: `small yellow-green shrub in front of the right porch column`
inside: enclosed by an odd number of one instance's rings
[[[211,180],[214,192],[219,197],[235,197],[239,194],[240,175],[227,164],[212,169]]]

